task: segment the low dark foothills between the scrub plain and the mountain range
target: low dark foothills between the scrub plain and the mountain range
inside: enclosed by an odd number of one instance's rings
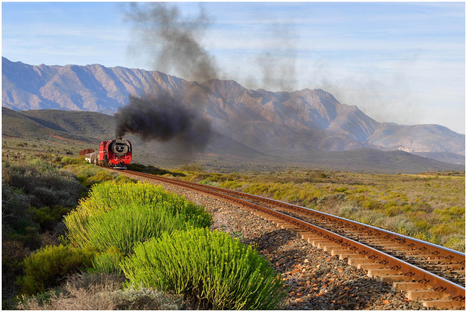
[[[79,148],[99,148],[101,140],[113,139],[113,117],[88,111],[30,110],[13,111],[2,107],[2,136],[13,139],[46,139]],[[193,158],[180,158],[170,146],[159,142],[142,142],[128,135],[134,146],[134,160],[156,166],[177,167],[181,163],[197,161],[208,169],[237,168],[253,170],[273,169],[276,166],[301,166],[331,171],[373,173],[419,173],[428,167],[452,166],[438,160],[421,157],[404,151],[384,152],[370,148],[342,152],[270,150],[261,153],[218,132],[211,132],[205,150]],[[79,150],[78,148],[78,150]],[[76,149],[71,148],[76,151]],[[460,155],[459,155],[460,156]],[[217,168],[217,169],[216,169]],[[454,165],[454,170],[460,170]]]

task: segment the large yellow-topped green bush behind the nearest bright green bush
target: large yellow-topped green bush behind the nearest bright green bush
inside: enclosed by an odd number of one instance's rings
[[[92,244],[99,251],[115,246],[124,253],[134,243],[186,224],[210,226],[212,215],[183,197],[149,183],[103,182],[64,218],[73,246]]]

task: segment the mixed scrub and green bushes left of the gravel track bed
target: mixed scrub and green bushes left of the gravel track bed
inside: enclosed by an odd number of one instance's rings
[[[3,309],[277,308],[279,275],[211,232],[204,207],[82,159],[48,161],[2,162]]]

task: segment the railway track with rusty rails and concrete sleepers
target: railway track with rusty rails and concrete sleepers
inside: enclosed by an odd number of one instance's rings
[[[465,253],[261,196],[147,173],[126,173],[204,193],[249,210],[367,270],[368,277],[392,284],[393,291],[406,293],[409,300],[427,307],[465,309]]]

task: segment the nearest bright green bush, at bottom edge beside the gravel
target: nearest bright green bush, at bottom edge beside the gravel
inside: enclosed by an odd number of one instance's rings
[[[184,294],[193,308],[277,309],[280,276],[251,246],[209,229],[164,233],[122,263],[135,284]]]

